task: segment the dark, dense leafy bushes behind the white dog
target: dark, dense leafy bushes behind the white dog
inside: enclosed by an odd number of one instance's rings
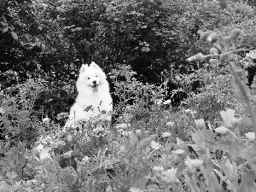
[[[144,83],[168,79],[171,92],[180,87],[175,74],[193,73],[199,67],[186,62],[206,46],[198,41],[199,30],[218,28],[225,33],[245,22],[245,16],[255,19],[255,8],[253,12],[242,9],[247,4],[255,6],[253,1],[242,6],[236,2],[1,0],[1,89],[41,78],[49,90],[41,93],[37,109],[68,111],[79,67],[96,61],[106,73],[131,66]],[[247,38],[242,43],[254,46],[254,32],[244,30]],[[193,90],[199,86],[195,82]],[[172,102],[184,96],[181,92]]]

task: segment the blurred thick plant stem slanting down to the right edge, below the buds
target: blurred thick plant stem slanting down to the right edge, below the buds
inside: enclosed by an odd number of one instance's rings
[[[227,61],[228,65],[229,65],[229,67],[230,67],[230,72],[235,77],[236,83],[238,84],[238,86],[239,86],[239,88],[241,90],[242,96],[243,96],[245,102],[247,103],[247,108],[248,108],[249,113],[250,113],[250,118],[252,119],[252,122],[253,122],[253,131],[256,134],[256,117],[255,117],[255,113],[253,112],[252,103],[249,100],[249,97],[247,96],[247,92],[244,89],[243,84],[241,83],[241,79],[238,77],[238,75],[236,73],[234,65],[230,61],[230,56],[229,55],[226,55],[226,61]]]

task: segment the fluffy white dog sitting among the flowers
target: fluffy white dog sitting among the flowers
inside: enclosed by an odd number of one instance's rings
[[[113,110],[112,97],[106,74],[101,67],[95,62],[91,62],[90,66],[83,65],[76,85],[79,95],[70,109],[69,120],[99,118],[110,121],[109,112]]]

